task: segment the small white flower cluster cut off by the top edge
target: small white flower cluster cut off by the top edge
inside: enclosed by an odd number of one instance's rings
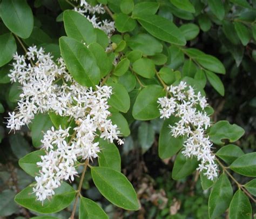
[[[102,4],[97,4],[95,6],[91,6],[88,4],[85,0],[82,0],[80,3],[80,8],[75,8],[75,11],[83,15],[84,17],[89,20],[94,28],[98,28],[100,30],[103,30],[109,37],[112,35],[112,33],[116,30],[114,27],[114,22],[110,20],[99,20],[98,17],[96,17],[95,13],[103,14],[105,13],[105,9],[102,6]],[[86,15],[87,13],[91,14]]]

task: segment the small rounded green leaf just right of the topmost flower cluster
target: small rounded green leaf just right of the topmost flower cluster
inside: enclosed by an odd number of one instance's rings
[[[136,27],[136,21],[125,13],[114,15],[114,22],[117,30],[121,33],[132,31]]]

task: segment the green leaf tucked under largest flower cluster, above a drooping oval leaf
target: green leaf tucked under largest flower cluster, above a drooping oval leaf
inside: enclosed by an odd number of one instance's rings
[[[114,145],[114,143],[108,142],[107,140],[99,139],[99,147],[99,166],[109,167],[121,172],[121,157],[117,146]]]

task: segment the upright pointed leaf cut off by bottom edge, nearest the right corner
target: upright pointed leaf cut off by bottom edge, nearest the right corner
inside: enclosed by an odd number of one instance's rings
[[[233,196],[228,211],[228,217],[232,219],[251,219],[252,206],[248,197],[238,189]]]

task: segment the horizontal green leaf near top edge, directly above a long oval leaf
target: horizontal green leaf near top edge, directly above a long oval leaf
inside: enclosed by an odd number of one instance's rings
[[[159,3],[157,2],[139,2],[134,6],[132,11],[132,16],[136,15],[154,15],[159,8]]]

